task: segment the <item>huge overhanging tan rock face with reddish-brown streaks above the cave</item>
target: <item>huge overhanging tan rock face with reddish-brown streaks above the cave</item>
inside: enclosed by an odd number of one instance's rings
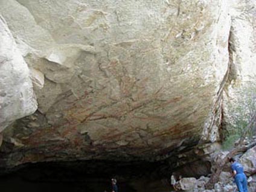
[[[218,141],[230,29],[241,20],[232,3],[0,1],[38,102],[5,130],[19,143],[2,150],[9,165],[156,160]],[[234,10],[252,27],[250,3]]]

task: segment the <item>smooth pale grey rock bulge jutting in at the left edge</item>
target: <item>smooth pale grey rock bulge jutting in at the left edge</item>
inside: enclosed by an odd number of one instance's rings
[[[37,109],[30,72],[0,16],[0,132],[12,121]],[[0,136],[0,146],[2,135]]]

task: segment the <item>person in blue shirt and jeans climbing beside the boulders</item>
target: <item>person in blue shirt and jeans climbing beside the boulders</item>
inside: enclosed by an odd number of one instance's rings
[[[235,179],[238,191],[248,192],[246,175],[243,173],[243,165],[235,161],[234,158],[230,158],[229,162],[231,162],[232,177]]]

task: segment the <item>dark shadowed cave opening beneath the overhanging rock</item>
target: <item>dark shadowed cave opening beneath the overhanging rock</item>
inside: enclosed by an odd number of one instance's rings
[[[170,191],[167,171],[159,163],[72,161],[25,164],[0,176],[1,191],[111,191],[117,178],[120,192]]]

